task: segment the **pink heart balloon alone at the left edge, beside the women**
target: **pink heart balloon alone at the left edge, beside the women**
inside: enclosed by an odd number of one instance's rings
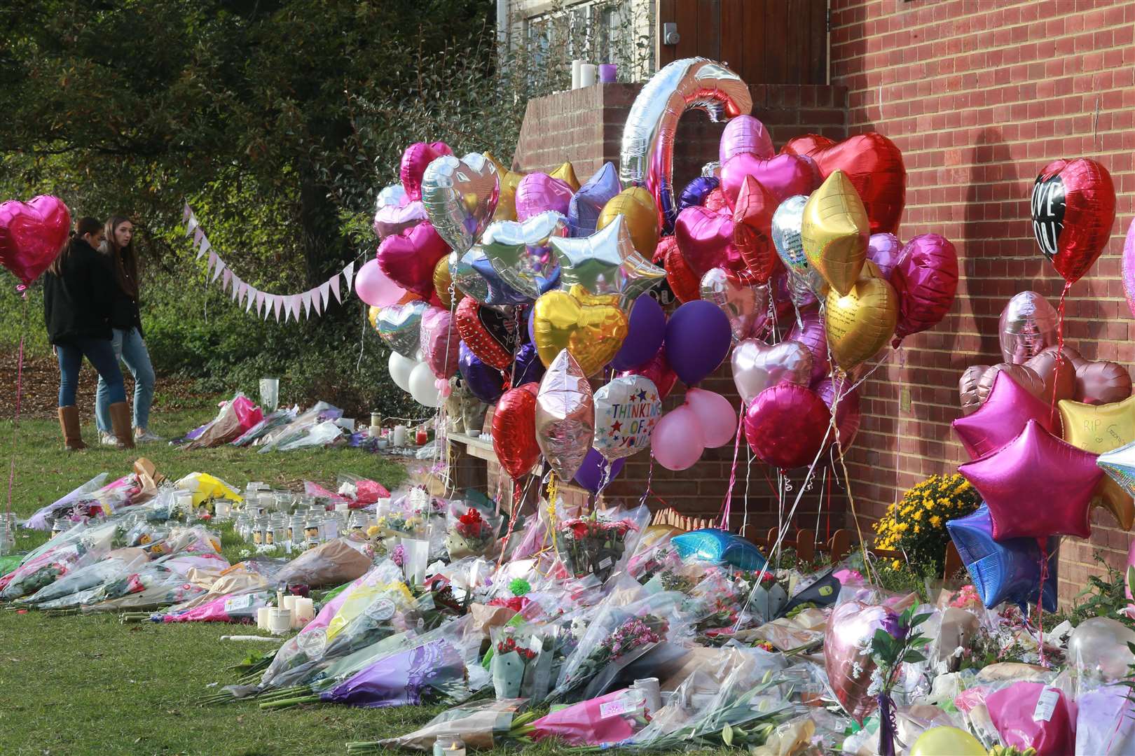
[[[70,211],[51,195],[0,204],[0,265],[28,286],[67,243]]]

